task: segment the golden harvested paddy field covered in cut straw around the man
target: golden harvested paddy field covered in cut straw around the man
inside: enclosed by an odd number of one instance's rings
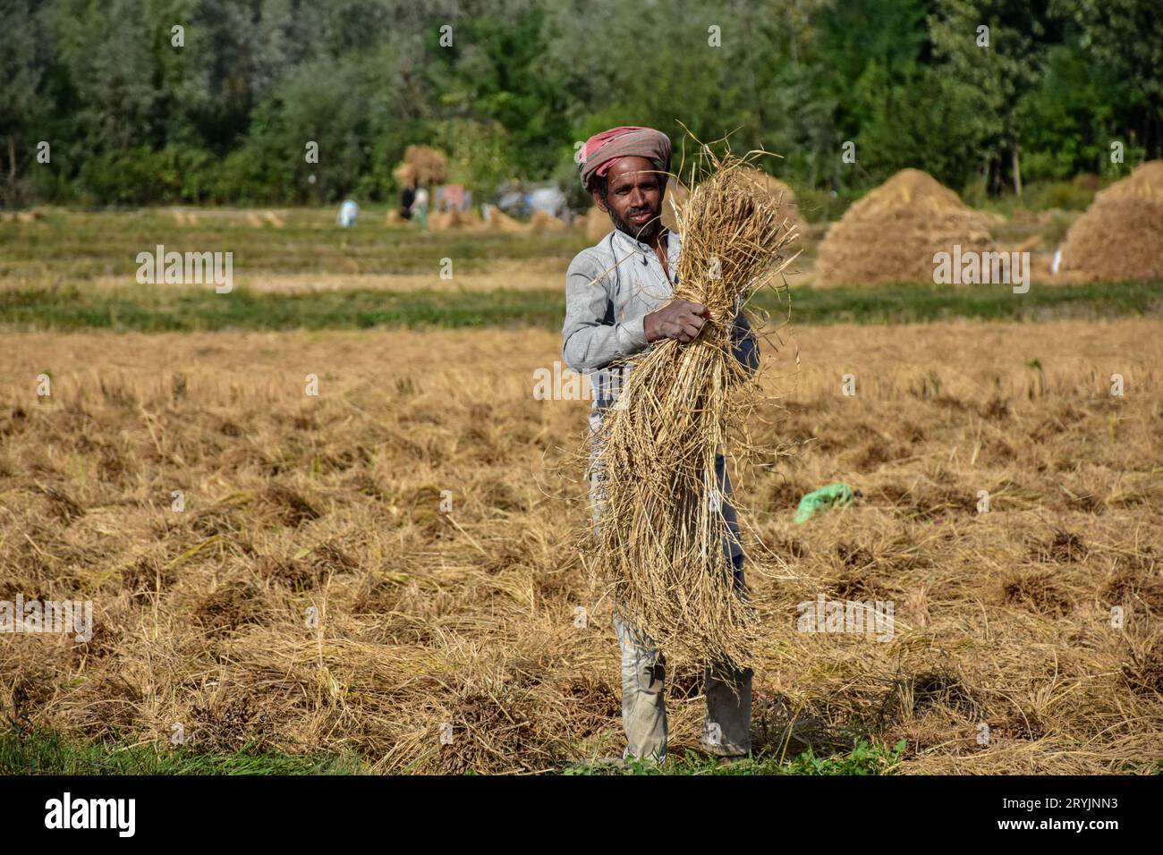
[[[757,751],[904,739],[906,774],[1155,768],[1161,332],[799,327],[768,348],[782,397],[755,428],[786,454],[736,483],[778,557],[748,565]],[[180,725],[195,751],[354,751],[383,772],[621,750],[609,603],[571,540],[580,472],[558,465],[587,401],[533,393],[552,330],[2,342],[0,599],[91,600],[94,624],[84,643],[5,639],[14,722],[163,748]],[[861,498],[795,526],[830,480]],[[820,596],[893,603],[891,637],[799,632]],[[676,661],[676,755],[698,748],[700,692]]]

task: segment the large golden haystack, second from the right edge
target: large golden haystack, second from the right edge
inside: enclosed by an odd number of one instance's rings
[[[989,218],[927,172],[905,169],[855,202],[828,229],[818,285],[933,282],[936,252],[990,252]]]

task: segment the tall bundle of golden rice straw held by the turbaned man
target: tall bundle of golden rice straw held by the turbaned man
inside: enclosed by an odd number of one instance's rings
[[[714,462],[716,453],[748,447],[745,419],[761,396],[735,358],[732,327],[751,294],[794,259],[784,250],[798,237],[791,212],[743,172],[761,154],[720,159],[700,144],[687,186],[695,170],[702,180],[678,214],[675,297],[704,304],[709,318],[694,341],[664,339],[630,361],[593,450],[591,572],[613,585],[622,615],[668,656],[736,668],[754,667],[758,621],[734,589],[723,548],[729,499]]]

